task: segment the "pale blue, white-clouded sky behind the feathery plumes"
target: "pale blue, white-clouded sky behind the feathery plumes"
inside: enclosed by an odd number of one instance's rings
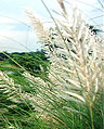
[[[103,14],[98,0],[65,1],[69,3],[66,5],[68,12],[75,2],[84,15],[93,18],[91,24],[103,24],[103,18],[98,17]],[[44,0],[44,2],[49,9],[60,11],[56,0]],[[32,30],[28,27],[29,24],[25,14],[25,10],[28,9],[31,9],[46,21],[50,21],[50,15],[41,0],[0,0],[0,51],[36,51],[40,48]]]

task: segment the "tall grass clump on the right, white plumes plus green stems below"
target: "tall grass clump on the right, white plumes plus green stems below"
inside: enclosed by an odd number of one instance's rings
[[[48,104],[46,111],[53,116],[55,124],[63,125],[60,128],[102,129],[104,41],[91,33],[77,8],[73,9],[69,18],[63,0],[57,2],[63,11],[63,21],[55,20],[42,1],[55,25],[52,30],[46,29],[32,12],[27,12],[51,61],[49,81],[41,83],[41,90],[44,90],[39,91],[42,104]]]

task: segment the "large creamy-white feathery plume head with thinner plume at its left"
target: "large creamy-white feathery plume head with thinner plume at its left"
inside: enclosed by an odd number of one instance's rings
[[[58,0],[58,3],[64,4],[63,0]],[[65,13],[64,8],[63,11]],[[28,13],[28,17],[35,26],[36,34],[38,29],[38,37],[42,39],[44,48],[46,41],[48,43],[47,52],[52,63],[49,78],[56,87],[60,87],[58,96],[60,93],[70,94],[72,98],[76,96],[78,101],[88,102],[90,107],[101,81],[99,76],[102,73],[102,57],[100,56],[100,42],[95,40],[95,36],[82,20],[80,11],[74,8],[70,23],[67,22],[66,17],[64,17],[66,22],[57,23],[61,31],[53,28],[52,31],[47,33],[32,13]],[[50,36],[48,36],[49,34]],[[48,41],[49,39],[50,41]],[[73,92],[72,86],[74,89],[81,88],[80,93]]]

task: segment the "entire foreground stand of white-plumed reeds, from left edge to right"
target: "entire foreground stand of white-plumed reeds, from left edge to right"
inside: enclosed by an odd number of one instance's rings
[[[47,77],[34,76],[10,57],[25,85],[0,72],[0,129],[104,129],[103,34],[91,29],[77,7],[69,17],[64,0],[57,0],[60,21],[41,2],[52,28],[34,12],[26,14],[50,62]]]

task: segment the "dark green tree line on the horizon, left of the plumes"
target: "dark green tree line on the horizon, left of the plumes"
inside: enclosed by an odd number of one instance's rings
[[[6,56],[8,54],[9,56]],[[22,65],[26,70],[29,70],[32,75],[36,76],[44,76],[48,72],[49,61],[48,57],[46,57],[46,53],[43,50],[36,51],[36,52],[13,52],[8,53],[5,52],[3,54],[0,53],[0,61],[6,61],[10,64],[16,65],[15,62],[17,62],[20,65]],[[11,57],[15,61],[13,62]]]

